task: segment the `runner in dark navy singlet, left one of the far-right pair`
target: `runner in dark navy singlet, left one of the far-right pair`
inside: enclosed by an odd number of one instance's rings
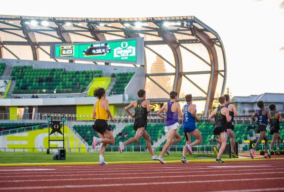
[[[270,113],[264,109],[264,103],[263,101],[259,101],[257,102],[257,106],[259,107],[260,110],[256,111],[253,116],[253,122],[256,122],[255,117],[257,116],[257,133],[259,133],[259,137],[258,140],[256,142],[256,145],[253,149],[250,150],[250,154],[251,154],[251,158],[254,159],[254,155],[255,155],[255,150],[257,149],[257,147],[259,146],[259,144],[261,143],[261,140],[264,139],[264,148],[265,148],[265,155],[264,157],[266,159],[271,157],[271,154],[267,153],[267,142],[268,142],[268,138],[265,135],[266,132],[266,127],[268,124],[268,119],[271,119]],[[269,151],[270,153],[270,151]]]

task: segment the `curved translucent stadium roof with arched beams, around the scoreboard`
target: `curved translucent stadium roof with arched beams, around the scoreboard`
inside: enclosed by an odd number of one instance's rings
[[[206,100],[207,112],[214,98],[223,94],[226,84],[223,43],[216,31],[194,16],[64,18],[0,15],[0,58],[68,62],[51,59],[50,45],[139,36],[144,37],[145,88],[149,98],[168,98],[171,90],[178,91],[180,98],[191,93]]]

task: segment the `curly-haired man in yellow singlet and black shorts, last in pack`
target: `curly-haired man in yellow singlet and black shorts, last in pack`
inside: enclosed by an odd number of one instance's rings
[[[96,119],[96,121],[93,125],[93,129],[97,131],[100,138],[94,136],[92,145],[93,149],[95,149],[97,143],[102,142],[99,165],[107,165],[104,161],[105,147],[106,145],[113,145],[115,142],[107,120],[109,118],[112,122],[115,122],[115,120],[109,111],[108,100],[105,99],[105,89],[96,88],[94,90],[94,97],[96,97],[98,100],[94,104],[92,117],[93,119]]]

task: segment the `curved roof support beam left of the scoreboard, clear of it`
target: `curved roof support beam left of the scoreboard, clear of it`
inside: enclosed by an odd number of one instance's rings
[[[22,26],[23,33],[31,47],[32,59],[37,61],[39,60],[38,43],[36,41],[34,33],[31,31],[30,27],[27,24],[25,24],[24,21],[21,21],[21,26]]]

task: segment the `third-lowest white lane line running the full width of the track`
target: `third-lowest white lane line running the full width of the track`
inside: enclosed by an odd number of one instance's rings
[[[252,169],[240,169],[240,170],[233,170],[234,172],[235,171],[251,171]],[[255,171],[261,171],[260,173],[262,173],[263,171],[265,170],[284,170],[284,168],[269,168],[269,169],[253,169],[254,170],[254,173],[256,174],[257,172]],[[172,172],[165,172],[165,171],[160,171],[160,172],[142,172],[142,173],[105,173],[103,175],[138,175],[138,174],[171,174],[171,173],[178,173],[178,174],[183,174],[183,173],[190,173],[190,174],[195,174],[195,173],[208,173],[208,172],[226,172],[228,170],[206,170],[206,171],[182,171],[182,172],[177,172],[177,171],[172,171]],[[32,175],[32,177],[55,177],[55,176],[94,176],[96,174],[54,174],[54,175]],[[0,176],[0,178],[18,178],[18,177],[31,177],[31,175],[16,175],[16,176]]]

